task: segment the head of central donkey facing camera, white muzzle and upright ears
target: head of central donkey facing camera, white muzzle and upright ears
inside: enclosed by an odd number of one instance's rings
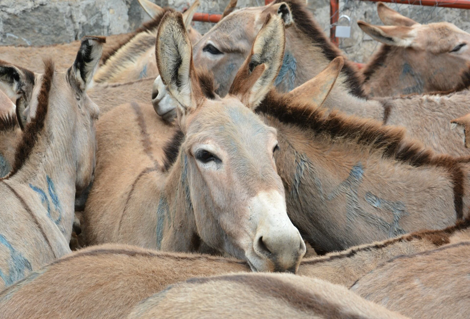
[[[276,130],[253,112],[272,87],[284,45],[282,20],[268,15],[230,94],[221,99],[211,77],[195,70],[180,13],[167,13],[157,36],[160,76],[178,101],[185,136],[179,158],[199,236],[214,249],[246,258],[256,271],[295,272],[305,254],[276,172]]]

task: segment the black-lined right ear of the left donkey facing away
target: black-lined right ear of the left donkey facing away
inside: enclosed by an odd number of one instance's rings
[[[106,43],[105,37],[85,36],[82,39],[77,57],[70,69],[70,77],[76,79],[77,88],[82,92],[85,92],[93,82],[93,75],[103,52],[103,43]]]

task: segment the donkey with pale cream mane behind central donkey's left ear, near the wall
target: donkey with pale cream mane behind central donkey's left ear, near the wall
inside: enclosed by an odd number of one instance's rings
[[[155,38],[158,25],[165,12],[173,12],[171,8],[161,8],[149,0],[139,0],[141,6],[152,17],[137,29],[128,41],[109,50],[103,58],[104,64],[97,70],[94,81],[97,83],[128,82],[140,78],[155,78],[158,75],[155,63]],[[189,40],[196,43],[201,34],[191,27],[199,0],[183,13]]]

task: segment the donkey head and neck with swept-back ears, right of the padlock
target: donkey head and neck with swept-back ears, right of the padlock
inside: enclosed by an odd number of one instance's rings
[[[470,34],[448,22],[420,24],[383,3],[385,26],[358,21],[382,47],[362,69],[369,96],[459,90],[470,84]]]

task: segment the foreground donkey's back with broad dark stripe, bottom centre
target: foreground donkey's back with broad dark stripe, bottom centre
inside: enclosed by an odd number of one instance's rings
[[[327,281],[268,273],[191,278],[143,300],[127,318],[208,313],[216,318],[406,318]]]

